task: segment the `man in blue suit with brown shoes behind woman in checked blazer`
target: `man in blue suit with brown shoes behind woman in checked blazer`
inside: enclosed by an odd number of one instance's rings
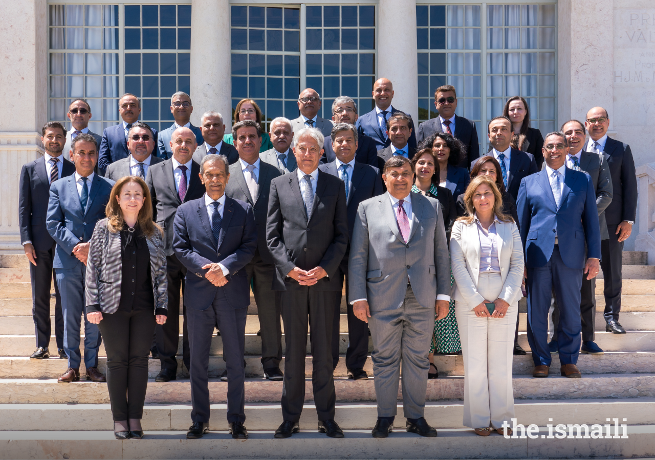
[[[114,182],[94,174],[98,158],[96,139],[86,133],[71,142],[75,173],[50,185],[46,224],[56,241],[54,272],[62,293],[64,350],[68,369],[58,381],[80,380],[80,320],[84,316],[84,365],[86,380],[106,381],[98,370],[98,348],[102,338],[98,326],[89,323],[84,311],[84,277],[89,240],[96,222],[105,217],[105,207]]]

